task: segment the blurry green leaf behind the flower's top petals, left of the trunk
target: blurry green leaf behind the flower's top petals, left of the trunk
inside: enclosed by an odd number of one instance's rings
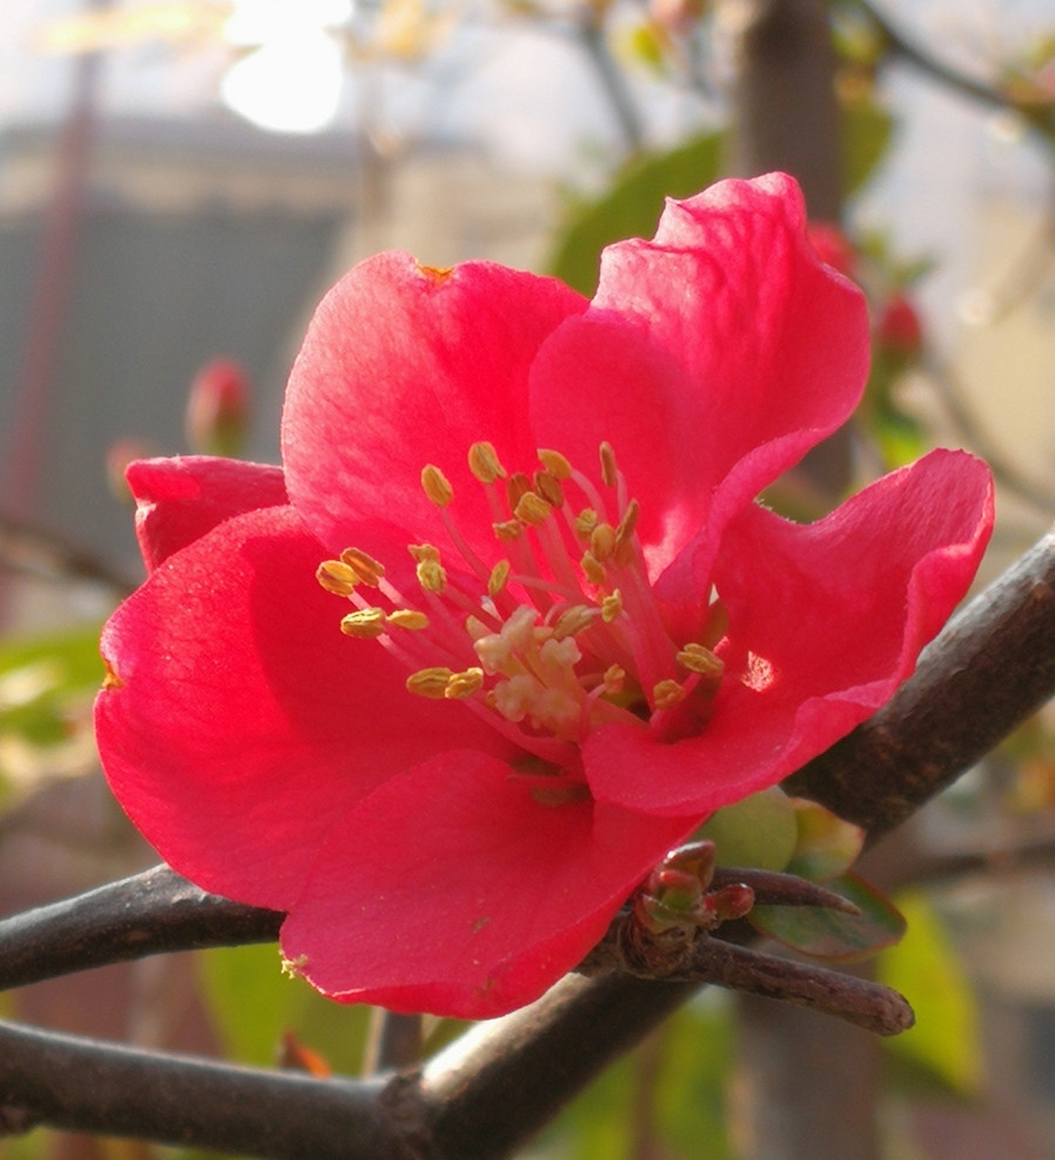
[[[722,143],[722,133],[704,133],[670,153],[633,161],[602,197],[572,209],[558,231],[550,273],[593,295],[605,246],[651,238],[665,197],[691,197],[716,181]]]

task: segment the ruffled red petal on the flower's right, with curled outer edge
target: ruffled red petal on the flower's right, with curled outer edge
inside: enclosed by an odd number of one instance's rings
[[[779,782],[886,703],[963,596],[992,528],[992,481],[934,451],[810,525],[750,507],[715,583],[727,675],[698,738],[590,738],[594,795],[656,813],[711,811]]]

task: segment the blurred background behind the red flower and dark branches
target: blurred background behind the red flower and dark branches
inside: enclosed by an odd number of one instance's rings
[[[6,5],[0,911],[156,861],[91,733],[99,626],[142,575],[130,458],[275,462],[299,335],[360,258],[490,258],[590,293],[600,248],[651,235],[665,194],[769,168],[802,181],[816,245],[865,287],[875,336],[853,430],[769,499],[814,519],[928,447],[968,447],[999,480],[991,580],[1055,514],[1050,0]],[[1055,1158],[1052,723],[867,872],[910,919],[874,969],[916,1030],[876,1044],[707,992],[536,1153]],[[0,1012],[356,1071],[364,1014],[276,966],[274,948],[151,959]],[[0,1141],[20,1160],[165,1152]]]

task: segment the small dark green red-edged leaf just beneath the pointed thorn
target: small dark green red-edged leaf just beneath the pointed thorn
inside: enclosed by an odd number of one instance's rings
[[[905,920],[894,904],[855,873],[841,875],[825,886],[848,898],[859,915],[819,906],[756,906],[747,921],[764,935],[814,958],[850,963],[890,947],[905,931]]]

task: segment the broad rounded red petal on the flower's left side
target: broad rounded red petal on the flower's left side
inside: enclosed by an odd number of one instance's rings
[[[341,635],[344,606],[315,580],[324,554],[291,508],[237,516],[159,567],[102,638],[114,792],[181,873],[279,909],[334,818],[386,777],[454,745],[510,748]]]

